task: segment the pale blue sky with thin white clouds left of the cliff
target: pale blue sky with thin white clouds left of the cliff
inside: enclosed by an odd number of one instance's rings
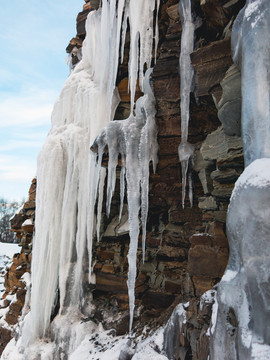
[[[65,48],[83,0],[2,0],[0,197],[27,197],[53,104],[68,77]]]

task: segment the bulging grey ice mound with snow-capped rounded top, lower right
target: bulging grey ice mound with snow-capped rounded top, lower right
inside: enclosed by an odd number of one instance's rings
[[[230,260],[212,317],[211,359],[255,359],[270,345],[270,159],[258,159],[238,179],[227,218]]]

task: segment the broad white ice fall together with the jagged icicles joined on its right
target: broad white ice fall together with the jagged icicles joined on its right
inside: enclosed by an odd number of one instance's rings
[[[52,128],[38,158],[31,311],[22,329],[26,346],[35,338],[51,333],[50,321],[57,303],[60,303],[58,313],[61,315],[74,306],[81,312],[88,306],[83,283],[86,268],[91,280],[93,234],[100,225],[105,178],[101,159],[105,143],[109,149],[108,213],[118,153],[123,164],[120,216],[124,179],[127,182],[130,328],[132,326],[139,212],[145,239],[149,161],[153,161],[154,167],[157,162],[154,96],[149,77],[153,48],[156,51],[158,43],[158,27],[154,24],[158,10],[159,0],[103,0],[100,8],[88,15],[82,60],[72,71],[54,106]],[[110,122],[120,101],[115,83],[119,53],[122,61],[124,57],[128,25],[131,114],[125,121]],[[145,69],[148,70],[145,72]],[[134,116],[138,75],[145,95],[136,102]],[[95,140],[98,160],[97,155],[89,151]]]

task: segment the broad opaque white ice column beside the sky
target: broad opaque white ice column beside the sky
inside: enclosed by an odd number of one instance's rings
[[[23,343],[44,337],[55,304],[83,310],[82,283],[91,274],[95,157],[89,147],[114,116],[123,1],[103,1],[89,14],[82,60],[55,103],[52,128],[39,154],[31,312]],[[88,251],[87,251],[88,250]],[[87,255],[88,253],[88,255]]]

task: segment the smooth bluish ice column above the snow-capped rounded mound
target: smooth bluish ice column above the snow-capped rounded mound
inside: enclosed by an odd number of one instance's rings
[[[249,0],[234,22],[232,55],[242,75],[242,137],[245,164],[270,157],[270,8]]]

